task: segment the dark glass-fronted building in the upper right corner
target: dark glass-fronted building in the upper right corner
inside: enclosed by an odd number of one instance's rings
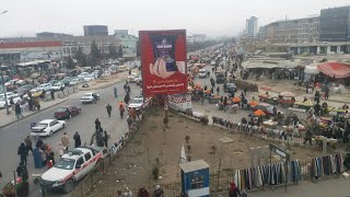
[[[350,42],[350,7],[320,10],[322,42]]]

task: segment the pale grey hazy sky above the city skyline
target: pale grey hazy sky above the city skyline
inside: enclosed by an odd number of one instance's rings
[[[320,9],[350,5],[350,0],[0,0],[0,37],[37,32],[83,34],[83,25],[114,30],[186,28],[187,34],[236,35],[245,20],[258,25],[319,14]]]

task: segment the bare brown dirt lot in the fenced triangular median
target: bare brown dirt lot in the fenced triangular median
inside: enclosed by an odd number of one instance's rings
[[[109,172],[103,181],[104,188],[137,188],[140,186],[154,185],[152,179],[152,167],[160,166],[161,178],[158,184],[180,181],[180,169],[178,166],[182,146],[190,146],[191,160],[205,160],[210,165],[210,172],[221,169],[246,169],[249,166],[249,148],[268,146],[257,137],[249,137],[240,132],[229,132],[213,126],[205,126],[180,115],[170,114],[168,128],[164,130],[164,112],[155,112],[145,121],[141,129],[133,136],[128,146],[118,154]],[[189,136],[189,143],[185,137]],[[228,137],[233,140],[223,143],[219,139]],[[215,146],[215,153],[212,153]],[[292,147],[292,159],[310,161],[320,152],[312,149]]]

